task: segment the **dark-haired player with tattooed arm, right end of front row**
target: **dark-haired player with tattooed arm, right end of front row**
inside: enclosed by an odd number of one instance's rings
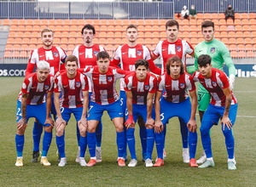
[[[235,140],[232,127],[236,122],[237,100],[230,90],[230,83],[224,71],[213,68],[212,58],[207,54],[201,54],[198,59],[199,71],[195,71],[194,80],[201,82],[201,85],[207,89],[211,95],[211,103],[207,107],[201,121],[201,141],[207,154],[207,161],[200,167],[214,167],[212,159],[212,145],[209,131],[211,127],[218,124],[221,118],[222,132],[225,137],[225,144],[228,151],[228,169],[236,169],[234,156]]]

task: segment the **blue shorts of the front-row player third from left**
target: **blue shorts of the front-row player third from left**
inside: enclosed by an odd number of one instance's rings
[[[111,120],[115,117],[124,117],[119,100],[109,105],[99,105],[96,102],[90,102],[87,120],[101,121],[103,111],[108,111]]]

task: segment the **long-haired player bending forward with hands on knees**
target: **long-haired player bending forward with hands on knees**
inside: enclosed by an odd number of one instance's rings
[[[166,90],[161,99],[163,90]],[[192,99],[192,105],[189,100],[189,94]],[[173,116],[183,119],[189,127],[189,166],[198,167],[195,163],[195,150],[197,144],[195,111],[197,97],[195,92],[195,83],[193,77],[184,72],[184,66],[178,57],[172,57],[167,60],[166,73],[159,77],[159,86],[155,95],[155,144],[157,148],[158,160],[154,167],[164,165],[163,145],[164,134],[163,127]]]

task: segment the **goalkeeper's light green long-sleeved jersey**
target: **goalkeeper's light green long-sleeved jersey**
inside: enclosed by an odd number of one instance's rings
[[[233,74],[236,76],[236,68],[230,57],[229,49],[225,46],[224,42],[220,42],[215,38],[213,38],[212,42],[203,41],[195,46],[195,65],[187,67],[188,73],[194,73],[198,70],[197,59],[201,54],[211,56],[212,67],[223,71],[223,65],[225,63],[229,68],[229,75]],[[207,93],[207,90],[201,84],[199,84],[198,91]]]

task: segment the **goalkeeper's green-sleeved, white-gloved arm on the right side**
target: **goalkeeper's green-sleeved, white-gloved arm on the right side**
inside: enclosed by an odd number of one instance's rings
[[[224,59],[225,65],[229,68],[229,82],[230,82],[230,89],[232,90],[235,86],[235,77],[236,77],[236,67],[230,57],[229,49],[224,45],[221,48],[222,57]]]

